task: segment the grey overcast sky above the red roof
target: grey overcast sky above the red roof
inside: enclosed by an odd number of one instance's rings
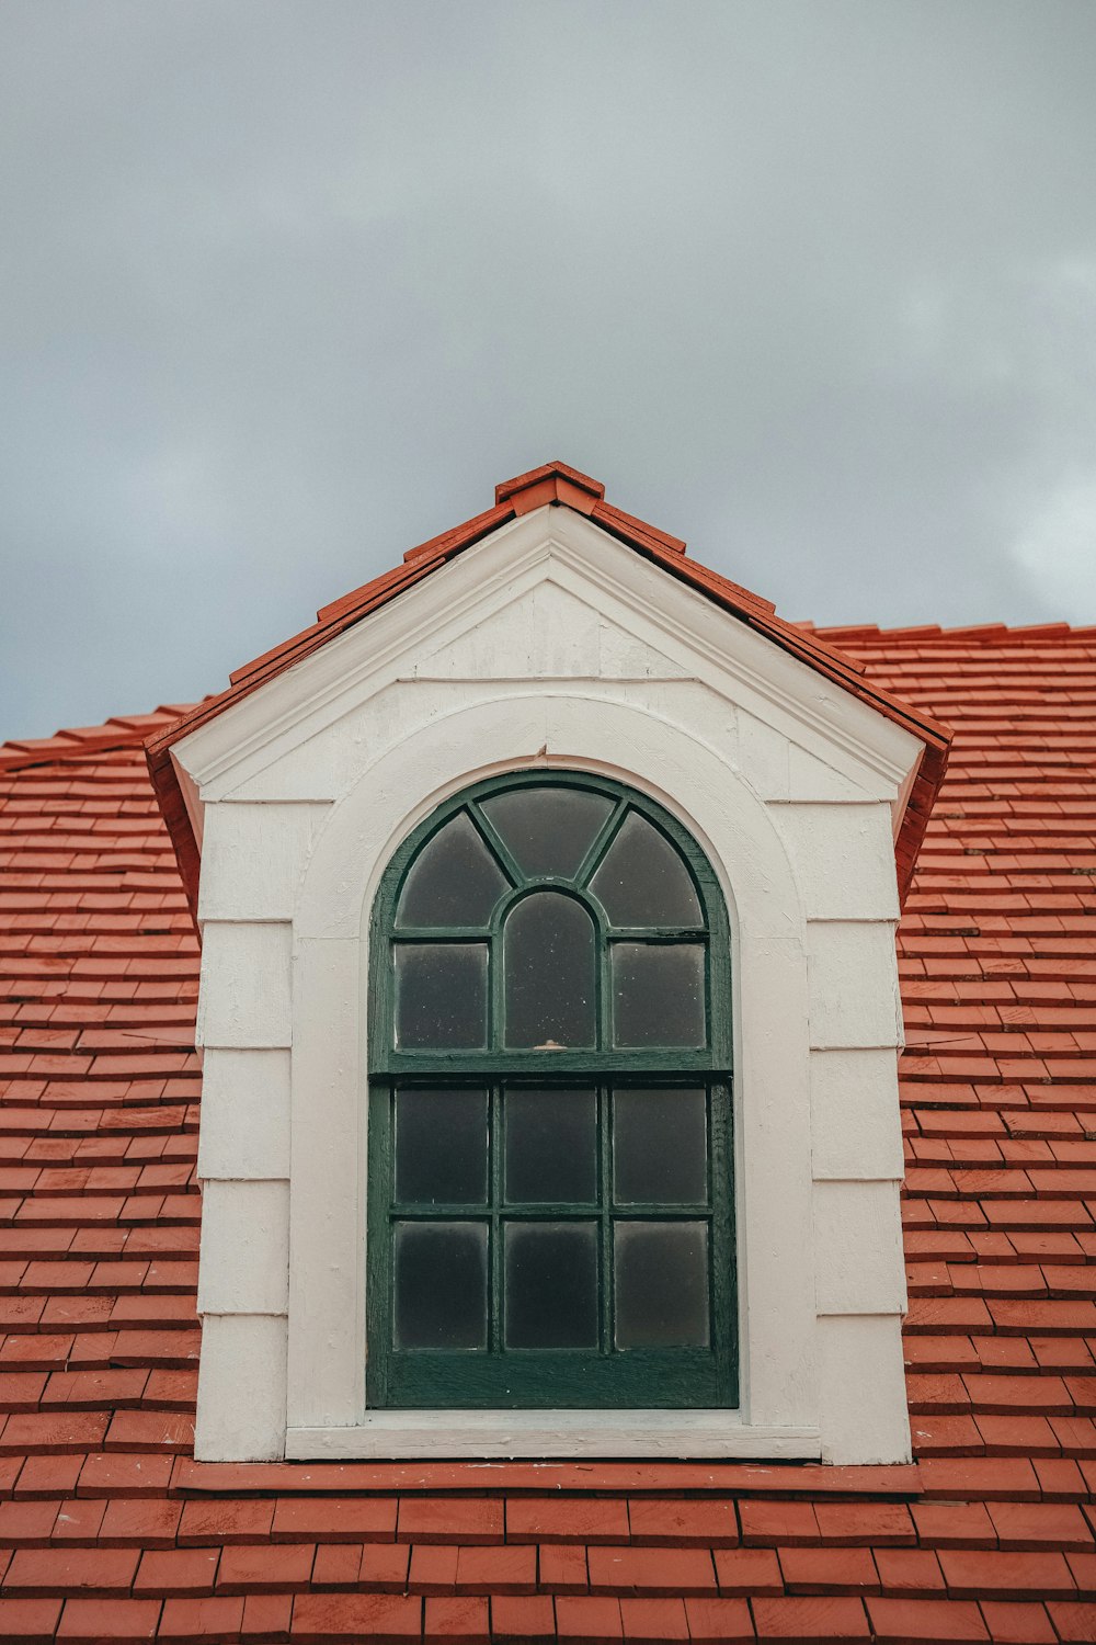
[[[818,623],[1096,622],[1091,0],[3,0],[0,737],[562,457]]]

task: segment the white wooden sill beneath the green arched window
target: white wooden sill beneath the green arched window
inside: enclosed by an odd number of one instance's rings
[[[289,1428],[288,1459],[822,1456],[817,1428],[749,1426],[735,1411],[370,1411],[353,1428]]]

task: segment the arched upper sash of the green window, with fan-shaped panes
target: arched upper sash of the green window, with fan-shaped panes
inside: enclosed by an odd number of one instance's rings
[[[730,1068],[711,865],[608,778],[518,772],[439,806],[389,864],[371,948],[378,1073]]]

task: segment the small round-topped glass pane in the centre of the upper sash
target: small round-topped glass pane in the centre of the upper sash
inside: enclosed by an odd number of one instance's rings
[[[582,903],[526,897],[506,916],[504,954],[506,1045],[593,1045],[593,921]]]

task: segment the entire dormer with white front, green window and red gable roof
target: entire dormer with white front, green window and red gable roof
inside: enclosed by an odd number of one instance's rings
[[[200,844],[197,1454],[907,1457],[894,931],[945,750],[560,464],[153,742],[192,888]]]

